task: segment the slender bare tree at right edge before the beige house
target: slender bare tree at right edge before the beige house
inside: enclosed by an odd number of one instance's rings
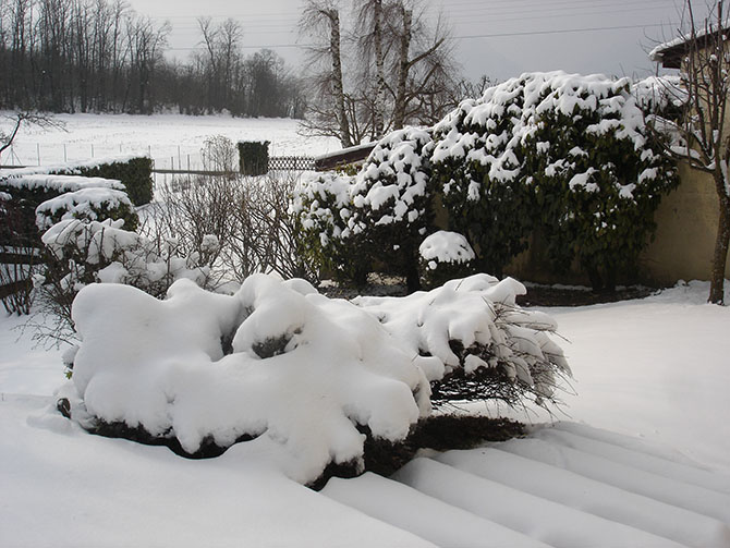
[[[719,222],[710,273],[710,303],[723,304],[725,265],[730,243],[730,132],[727,127],[730,93],[730,41],[723,0],[714,4],[702,23],[686,0],[690,31],[682,36],[681,88],[685,112],[677,121],[662,120],[679,136],[667,147],[691,169],[711,175],[719,200]]]

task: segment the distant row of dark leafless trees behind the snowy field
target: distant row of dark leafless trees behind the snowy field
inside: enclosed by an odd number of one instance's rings
[[[165,57],[169,23],[124,0],[0,0],[0,108],[302,118],[299,77],[273,51],[242,54],[240,23],[198,20],[203,48]]]

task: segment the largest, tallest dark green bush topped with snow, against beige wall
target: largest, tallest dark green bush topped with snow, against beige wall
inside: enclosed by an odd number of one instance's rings
[[[523,74],[437,124],[434,172],[487,271],[499,273],[537,226],[558,267],[575,257],[594,285],[610,285],[676,181],[647,137],[629,80]]]

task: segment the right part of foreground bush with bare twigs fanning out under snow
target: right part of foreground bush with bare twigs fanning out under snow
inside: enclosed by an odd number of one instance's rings
[[[427,293],[354,303],[421,356],[436,404],[496,399],[544,405],[555,401],[559,379],[571,372],[549,336],[556,322],[515,304],[525,293],[512,278],[475,275]]]

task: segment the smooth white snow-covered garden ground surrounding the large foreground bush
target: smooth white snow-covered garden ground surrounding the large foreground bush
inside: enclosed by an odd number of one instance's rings
[[[730,546],[730,308],[707,291],[546,309],[571,341],[564,423],[323,494],[240,446],[188,461],[84,433],[52,411],[61,351],[2,317],[0,546]]]

